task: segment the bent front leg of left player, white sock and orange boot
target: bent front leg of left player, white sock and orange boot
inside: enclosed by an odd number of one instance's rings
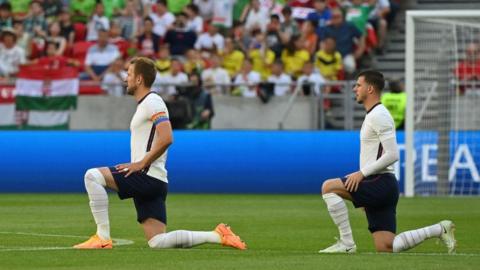
[[[118,190],[112,173],[108,168],[89,169],[84,177],[85,189],[90,200],[90,210],[97,232],[86,242],[75,245],[75,248],[111,248],[110,222],[108,218],[108,195],[106,187]]]

